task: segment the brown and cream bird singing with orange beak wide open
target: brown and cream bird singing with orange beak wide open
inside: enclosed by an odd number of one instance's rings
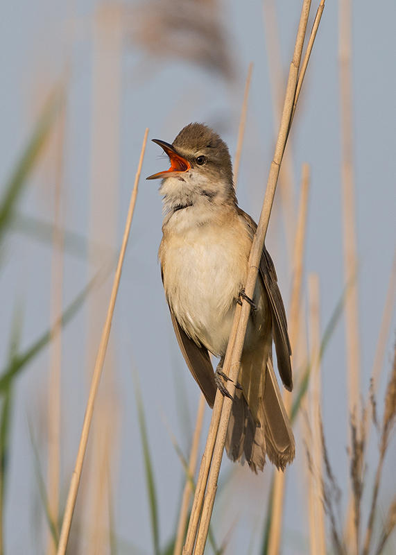
[[[225,387],[223,362],[236,304],[250,303],[241,366],[227,428],[225,450],[257,473],[266,457],[284,470],[295,440],[273,368],[273,343],[284,387],[291,391],[291,345],[275,266],[264,246],[252,298],[243,289],[257,229],[236,200],[227,144],[205,123],[189,123],[172,144],[152,139],[171,167],[148,176],[161,179],[162,283],[180,350],[213,407]],[[216,371],[209,353],[220,360]]]

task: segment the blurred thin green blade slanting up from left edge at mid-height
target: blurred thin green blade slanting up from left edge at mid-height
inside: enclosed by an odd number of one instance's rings
[[[60,323],[62,326],[67,325],[71,318],[75,316],[78,309],[83,305],[85,298],[87,297],[89,291],[91,291],[94,284],[96,284],[98,280],[98,275],[94,276],[92,280],[84,287],[83,291],[78,293],[76,298],[70,303],[67,309],[64,311],[60,318]],[[58,323],[57,323],[58,325]],[[36,355],[51,341],[51,330],[48,330],[42,336],[37,339],[26,351],[21,354],[13,357],[12,361],[6,365],[6,368],[3,369],[3,372],[0,374],[0,395],[3,394],[6,389],[8,388],[8,384],[10,381],[15,379],[17,375],[21,373],[21,371],[27,366],[29,362],[31,362]]]

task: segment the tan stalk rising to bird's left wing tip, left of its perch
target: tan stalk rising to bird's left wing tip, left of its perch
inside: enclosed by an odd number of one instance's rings
[[[193,441],[191,444],[190,459],[189,459],[189,475],[186,479],[186,484],[184,486],[182,505],[180,507],[178,531],[176,533],[175,549],[173,550],[173,555],[180,555],[182,552],[184,532],[186,530],[187,515],[189,513],[189,504],[191,499],[191,494],[193,492],[193,487],[191,484],[191,479],[196,472],[196,463],[198,459],[198,447],[200,441],[200,434],[203,425],[203,416],[205,413],[205,397],[200,394],[200,400],[198,403],[198,412],[196,418],[196,427],[193,434]]]

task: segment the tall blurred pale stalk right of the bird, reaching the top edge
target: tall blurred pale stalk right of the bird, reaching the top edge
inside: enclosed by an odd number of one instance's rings
[[[352,6],[351,0],[338,2],[338,57],[340,78],[341,107],[341,182],[343,212],[343,259],[344,279],[350,286],[345,298],[345,340],[347,347],[347,390],[348,413],[359,414],[360,400],[360,352],[359,352],[359,312],[356,284],[356,237],[355,237],[355,201],[353,173],[353,138],[352,138]],[[354,537],[354,503],[352,490],[348,502],[345,540],[350,545]],[[351,548],[352,549],[352,548]]]

